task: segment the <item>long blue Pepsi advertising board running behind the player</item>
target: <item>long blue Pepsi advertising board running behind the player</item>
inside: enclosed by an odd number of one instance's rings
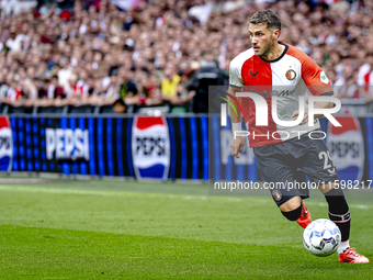
[[[338,120],[342,128],[325,120],[321,127],[340,179],[372,180],[372,117]],[[0,116],[0,169],[138,180],[261,180],[249,145],[240,158],[231,157],[227,124],[222,127],[218,115]]]

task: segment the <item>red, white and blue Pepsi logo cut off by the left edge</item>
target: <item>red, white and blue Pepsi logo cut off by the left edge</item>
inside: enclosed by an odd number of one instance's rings
[[[9,172],[12,168],[13,141],[8,116],[0,116],[0,171]]]

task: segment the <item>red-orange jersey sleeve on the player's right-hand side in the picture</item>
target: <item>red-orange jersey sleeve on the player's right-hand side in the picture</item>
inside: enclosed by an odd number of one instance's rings
[[[313,96],[334,94],[328,77],[308,56],[302,63],[302,78]]]

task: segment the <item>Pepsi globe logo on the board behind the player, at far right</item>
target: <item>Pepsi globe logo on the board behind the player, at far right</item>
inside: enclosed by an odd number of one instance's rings
[[[359,120],[337,116],[342,126],[329,125],[327,145],[340,180],[362,180],[364,171],[364,138]]]

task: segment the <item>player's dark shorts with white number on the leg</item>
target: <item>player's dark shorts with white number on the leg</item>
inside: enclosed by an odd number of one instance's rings
[[[321,138],[321,133],[314,132],[313,138]],[[323,139],[312,139],[308,134],[278,144],[253,147],[259,169],[265,180],[265,188],[278,206],[294,197],[306,199],[312,186],[339,180],[337,168],[330,158]]]

